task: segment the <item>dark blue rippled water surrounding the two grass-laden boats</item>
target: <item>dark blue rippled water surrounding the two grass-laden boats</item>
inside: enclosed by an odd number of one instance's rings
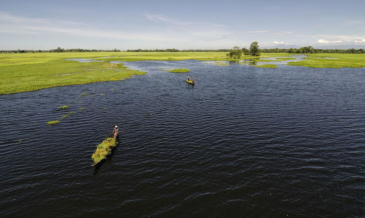
[[[0,96],[0,217],[365,217],[364,69],[126,65],[148,73]]]

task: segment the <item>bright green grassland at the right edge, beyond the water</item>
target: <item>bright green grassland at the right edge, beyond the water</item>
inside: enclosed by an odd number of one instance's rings
[[[292,66],[310,68],[360,68],[365,67],[365,54],[308,54],[305,61],[288,62]],[[339,58],[339,59],[328,59]]]

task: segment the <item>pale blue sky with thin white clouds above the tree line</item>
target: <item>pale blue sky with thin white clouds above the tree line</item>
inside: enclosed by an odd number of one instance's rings
[[[364,45],[365,1],[1,0],[0,50]]]

